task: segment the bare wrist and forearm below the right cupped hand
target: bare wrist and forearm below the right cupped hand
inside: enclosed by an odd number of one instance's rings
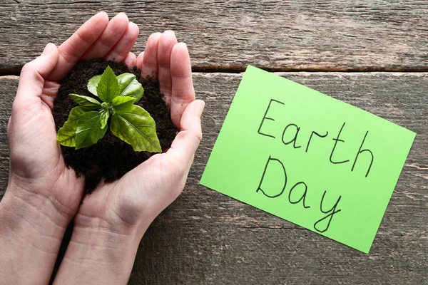
[[[126,284],[141,237],[123,227],[77,214],[54,284]]]

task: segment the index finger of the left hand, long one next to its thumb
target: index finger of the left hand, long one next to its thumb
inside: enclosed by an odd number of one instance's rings
[[[83,53],[92,46],[108,24],[106,12],[100,12],[85,22],[73,35],[58,48],[58,64],[49,79],[58,81],[73,68]]]

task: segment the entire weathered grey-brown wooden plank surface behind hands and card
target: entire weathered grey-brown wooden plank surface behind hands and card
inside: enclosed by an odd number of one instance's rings
[[[428,2],[40,2],[0,4],[0,197],[13,75],[94,11],[126,11],[136,51],[165,28],[188,43],[207,103],[183,195],[143,238],[130,284],[428,284]],[[198,185],[247,64],[313,71],[278,74],[417,132],[370,254]]]

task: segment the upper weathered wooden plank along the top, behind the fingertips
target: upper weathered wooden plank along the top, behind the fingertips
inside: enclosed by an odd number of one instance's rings
[[[401,1],[3,0],[0,71],[17,72],[96,11],[124,11],[148,35],[173,29],[195,71],[427,71],[428,3]]]

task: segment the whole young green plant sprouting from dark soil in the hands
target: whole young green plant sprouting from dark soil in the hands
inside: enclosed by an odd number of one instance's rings
[[[143,87],[131,73],[115,76],[110,66],[100,76],[88,81],[88,90],[99,99],[70,94],[78,103],[71,109],[68,120],[58,130],[60,145],[82,147],[93,145],[103,138],[107,125],[113,135],[132,145],[134,151],[161,152],[156,123],[138,105]],[[110,122],[109,122],[110,121]]]

